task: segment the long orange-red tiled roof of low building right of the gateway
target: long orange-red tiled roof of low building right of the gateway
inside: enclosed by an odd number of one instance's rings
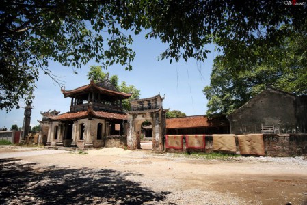
[[[166,128],[172,129],[225,126],[222,122],[224,121],[215,120],[214,122],[209,122],[208,118],[205,115],[189,116],[185,118],[166,118]]]

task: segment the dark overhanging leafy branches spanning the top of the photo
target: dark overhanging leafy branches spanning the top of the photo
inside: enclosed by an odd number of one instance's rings
[[[215,42],[231,57],[250,57],[245,46],[280,43],[302,31],[306,5],[289,1],[187,0],[12,0],[0,8],[0,109],[26,104],[42,71],[57,61],[74,69],[94,59],[107,68],[131,70],[135,53],[129,34],[146,29],[146,38],[168,44],[160,59],[193,57],[204,61]],[[57,80],[54,78],[55,81]]]

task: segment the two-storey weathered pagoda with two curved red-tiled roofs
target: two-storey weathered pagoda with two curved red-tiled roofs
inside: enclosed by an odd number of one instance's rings
[[[48,115],[47,146],[103,147],[107,136],[126,135],[127,114],[122,100],[131,94],[120,92],[108,79],[78,87],[61,89],[71,98],[70,111]],[[44,116],[46,123],[46,116]]]

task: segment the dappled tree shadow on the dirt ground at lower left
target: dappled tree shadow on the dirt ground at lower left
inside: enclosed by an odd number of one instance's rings
[[[133,173],[34,165],[0,159],[0,204],[152,204],[170,193],[125,179]]]

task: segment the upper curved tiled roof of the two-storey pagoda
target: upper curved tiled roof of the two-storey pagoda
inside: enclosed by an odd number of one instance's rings
[[[126,94],[124,92],[119,92],[119,91],[114,91],[114,90],[108,90],[98,85],[99,85],[98,83],[94,83],[94,81],[91,81],[90,84],[83,85],[73,90],[62,90],[62,93],[64,94],[65,97],[69,97],[69,96],[72,96],[73,94],[78,94],[80,92],[87,92],[90,89],[94,88],[98,90],[99,92],[102,92],[104,94],[109,94],[111,96],[121,96],[122,98],[129,98],[131,96],[131,94]]]

